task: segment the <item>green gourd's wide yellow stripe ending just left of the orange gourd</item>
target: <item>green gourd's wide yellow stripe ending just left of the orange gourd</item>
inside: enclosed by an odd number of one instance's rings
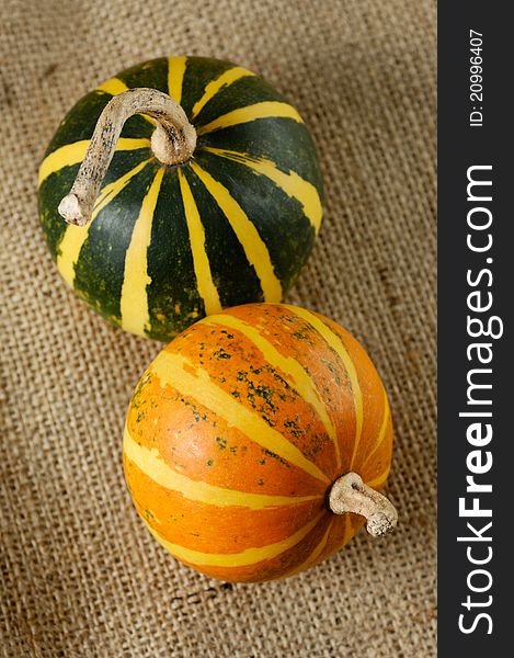
[[[138,336],[145,336],[145,329],[150,324],[147,286],[151,283],[151,279],[148,276],[147,256],[151,241],[153,212],[164,171],[163,167],[157,171],[156,178],[142,200],[139,217],[134,225],[130,245],[125,257],[125,272],[119,299],[122,327],[125,331]]]

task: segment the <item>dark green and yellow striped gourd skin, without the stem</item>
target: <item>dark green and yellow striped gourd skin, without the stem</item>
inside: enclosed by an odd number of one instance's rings
[[[57,212],[114,94],[169,93],[197,132],[193,159],[164,167],[152,120],[130,117],[87,227]],[[168,57],[123,71],[70,111],[39,169],[39,215],[65,281],[107,320],[168,340],[237,304],[279,302],[320,228],[322,183],[298,112],[232,64]]]

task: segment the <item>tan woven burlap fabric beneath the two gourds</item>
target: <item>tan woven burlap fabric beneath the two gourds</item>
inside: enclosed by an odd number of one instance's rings
[[[3,0],[0,20],[1,603],[4,656],[435,654],[435,8],[432,0]],[[400,525],[287,581],[175,563],[132,508],[122,428],[160,349],[59,279],[36,172],[69,106],[168,54],[240,63],[298,106],[325,223],[288,300],[364,343],[396,422]]]

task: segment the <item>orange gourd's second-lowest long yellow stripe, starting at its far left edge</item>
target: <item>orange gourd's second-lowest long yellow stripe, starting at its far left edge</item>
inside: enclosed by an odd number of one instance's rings
[[[216,507],[244,507],[251,510],[265,510],[284,506],[293,507],[322,498],[321,496],[294,497],[248,494],[245,491],[226,489],[201,480],[194,480],[173,470],[162,460],[156,447],[149,450],[134,441],[127,427],[125,427],[123,436],[123,450],[125,456],[155,483],[164,487],[164,489],[176,491],[186,500],[194,502],[214,504]],[[292,514],[294,513],[295,510],[292,510]]]

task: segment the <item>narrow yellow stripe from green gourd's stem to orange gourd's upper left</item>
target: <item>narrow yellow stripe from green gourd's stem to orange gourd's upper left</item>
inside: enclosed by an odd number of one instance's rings
[[[190,234],[190,245],[193,254],[193,266],[196,276],[198,294],[204,300],[205,313],[210,315],[221,310],[218,291],[213,281],[210,264],[205,250],[205,230],[196,207],[187,179],[179,169],[179,183],[184,204],[185,220]]]

